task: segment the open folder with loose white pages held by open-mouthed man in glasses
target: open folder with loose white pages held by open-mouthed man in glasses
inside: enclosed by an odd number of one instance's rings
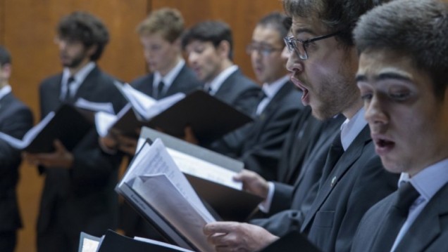
[[[216,219],[161,140],[140,148],[116,191],[168,241],[194,251],[213,251],[202,230]]]

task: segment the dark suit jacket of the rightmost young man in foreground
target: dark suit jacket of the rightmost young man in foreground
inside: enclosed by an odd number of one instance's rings
[[[397,192],[375,204],[364,215],[354,237],[351,251],[372,251],[375,238],[385,221],[387,212],[397,200]],[[448,184],[444,185],[423,208],[409,230],[395,248],[401,252],[436,252],[448,248]]]

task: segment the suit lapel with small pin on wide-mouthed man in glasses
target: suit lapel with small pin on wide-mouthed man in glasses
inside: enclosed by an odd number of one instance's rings
[[[370,130],[368,126],[365,126],[361,133],[356,136],[347,151],[342,154],[342,157],[340,157],[335,166],[332,168],[328,177],[321,180],[323,183],[321,183],[321,186],[319,187],[319,192],[313,202],[313,206],[311,206],[309,213],[306,214],[304,225],[301,226],[302,231],[307,225],[309,225],[318,209],[321,208],[322,204],[330,195],[330,192],[332,192],[333,188],[336,187],[337,183],[342,179],[344,174],[347,173],[354,162],[361,157],[363,148],[366,146],[366,143],[370,141]]]

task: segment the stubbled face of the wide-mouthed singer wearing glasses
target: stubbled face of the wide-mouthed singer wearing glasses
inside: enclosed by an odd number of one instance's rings
[[[329,34],[318,20],[297,17],[292,18],[291,33],[301,41]],[[329,119],[359,102],[354,81],[358,66],[355,50],[346,49],[335,37],[329,37],[307,44],[306,52],[306,60],[294,51],[290,53],[287,69],[292,72],[294,84],[303,91],[301,102],[311,106],[315,117]]]

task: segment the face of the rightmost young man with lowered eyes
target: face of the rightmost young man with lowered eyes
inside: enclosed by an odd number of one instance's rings
[[[361,53],[356,74],[382,164],[414,175],[448,157],[448,91],[437,100],[427,73],[393,51]]]

